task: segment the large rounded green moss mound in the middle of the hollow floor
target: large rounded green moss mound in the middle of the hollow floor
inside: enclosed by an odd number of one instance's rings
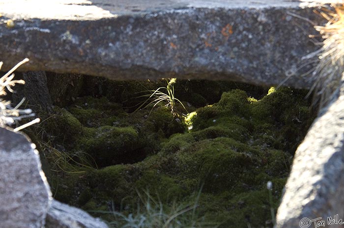
[[[250,151],[239,152],[241,147],[243,144],[224,137],[202,140],[177,154],[179,171],[184,178],[204,181],[207,192],[232,188],[253,164]]]

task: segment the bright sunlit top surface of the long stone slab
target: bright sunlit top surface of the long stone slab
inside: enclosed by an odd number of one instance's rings
[[[16,4],[14,4],[16,3]],[[96,20],[123,15],[146,15],[193,8],[298,8],[297,1],[287,0],[4,0],[1,3],[3,15],[13,19],[37,18],[57,20]]]

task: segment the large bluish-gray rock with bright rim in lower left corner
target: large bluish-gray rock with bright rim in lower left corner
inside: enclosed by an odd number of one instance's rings
[[[41,228],[50,189],[38,152],[20,133],[0,128],[0,227]]]

